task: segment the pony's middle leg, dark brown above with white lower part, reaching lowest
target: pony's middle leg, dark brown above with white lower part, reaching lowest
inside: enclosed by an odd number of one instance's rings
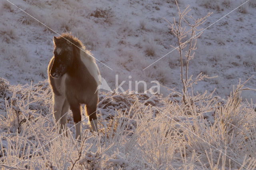
[[[70,103],[70,109],[72,110],[73,113],[73,119],[75,123],[75,128],[76,128],[76,138],[79,136],[78,140],[81,140],[81,109],[80,109],[80,104],[77,103]]]

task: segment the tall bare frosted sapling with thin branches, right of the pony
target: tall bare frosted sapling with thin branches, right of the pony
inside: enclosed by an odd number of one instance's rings
[[[187,87],[189,87],[193,83],[196,83],[197,81],[200,81],[204,78],[213,78],[213,77],[208,77],[207,75],[201,75],[201,73],[196,77],[196,79],[194,81],[192,81],[192,79],[191,79],[192,75],[188,78],[188,63],[189,63],[189,60],[194,57],[195,52],[193,52],[193,51],[196,50],[196,39],[202,34],[202,29],[197,29],[197,27],[200,26],[202,23],[204,23],[206,21],[206,18],[208,16],[210,16],[210,14],[212,14],[212,13],[208,13],[203,18],[194,19],[192,16],[187,15],[188,12],[190,12],[190,9],[188,9],[189,5],[185,8],[185,10],[183,12],[180,12],[178,3],[176,0],[175,0],[175,2],[177,5],[178,14],[179,14],[178,24],[176,23],[175,18],[173,18],[174,24],[171,24],[165,18],[164,18],[164,20],[166,20],[166,22],[168,22],[168,24],[170,24],[171,32],[174,34],[174,36],[176,36],[176,38],[178,40],[177,47],[174,47],[172,45],[170,45],[170,46],[177,49],[180,53],[180,69],[181,69],[181,81],[182,81],[182,85],[183,85],[183,101],[184,101],[184,103],[186,103],[185,94],[187,93]],[[185,25],[188,26],[189,29],[186,29],[186,26],[182,27],[183,22]],[[191,22],[193,22],[194,24],[190,24]],[[196,34],[196,32],[199,32],[199,33]],[[186,40],[185,42],[182,42],[182,40],[186,37],[190,37],[190,38],[188,40]],[[186,71],[185,71],[185,79],[184,79],[182,50],[186,47],[187,44],[189,46],[188,46],[188,50],[185,51],[186,53],[184,55],[184,57],[186,57]],[[190,81],[192,81],[192,83],[190,83]]]

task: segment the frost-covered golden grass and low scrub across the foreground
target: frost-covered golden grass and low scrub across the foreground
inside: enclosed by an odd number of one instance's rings
[[[82,114],[82,141],[58,134],[48,81],[0,82],[0,166],[25,169],[254,169],[255,106],[242,102],[243,85],[228,100],[204,93],[168,97],[100,94],[92,134]],[[190,99],[190,100],[188,100]]]

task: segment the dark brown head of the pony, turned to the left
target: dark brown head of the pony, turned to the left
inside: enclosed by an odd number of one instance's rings
[[[50,70],[50,75],[54,78],[64,75],[73,63],[74,53],[73,44],[64,36],[53,38],[54,61]]]

